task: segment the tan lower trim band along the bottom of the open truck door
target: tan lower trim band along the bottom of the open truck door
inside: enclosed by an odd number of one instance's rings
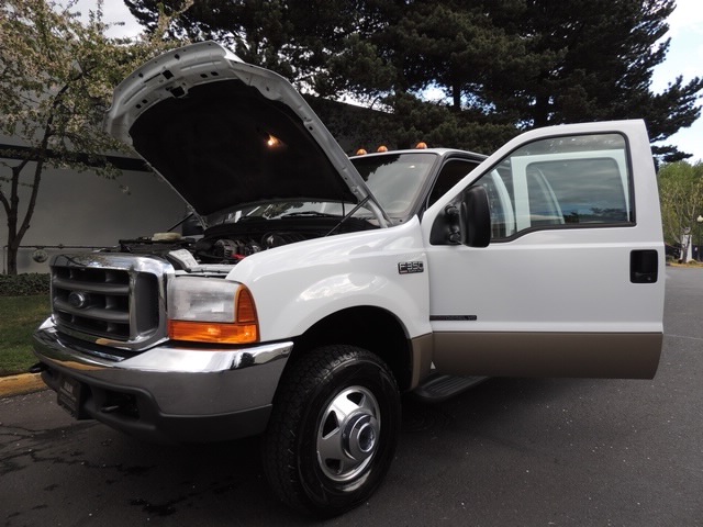
[[[651,379],[662,338],[660,333],[435,333],[432,361],[454,375]]]

